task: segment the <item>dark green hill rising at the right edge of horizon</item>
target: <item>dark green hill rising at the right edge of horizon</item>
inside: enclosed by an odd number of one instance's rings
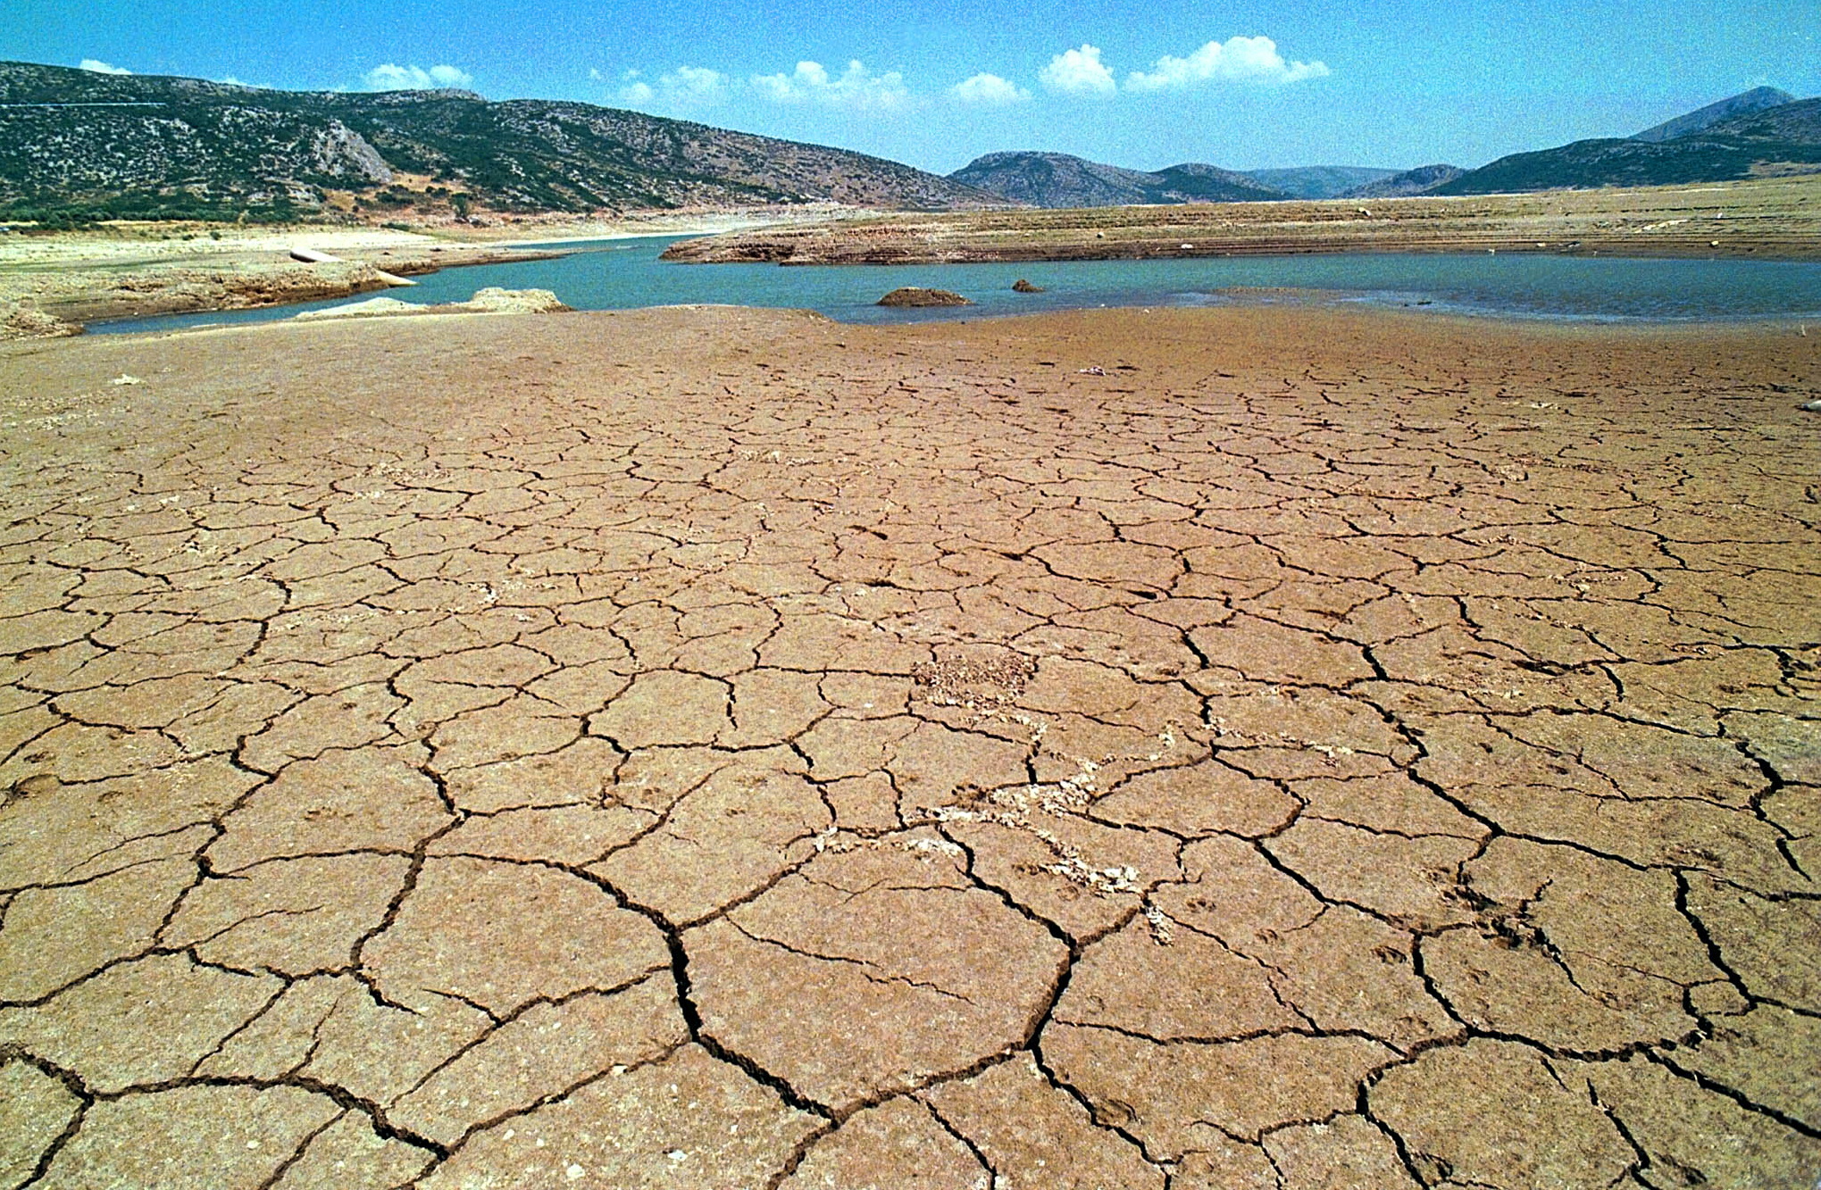
[[[1779,173],[1821,173],[1821,98],[1746,111],[1670,140],[1577,140],[1513,153],[1429,193],[1681,186]]]

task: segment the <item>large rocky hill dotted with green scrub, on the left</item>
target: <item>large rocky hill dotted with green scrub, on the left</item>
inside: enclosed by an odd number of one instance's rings
[[[992,206],[863,153],[592,104],[266,91],[0,62],[0,213],[291,218],[839,202]]]

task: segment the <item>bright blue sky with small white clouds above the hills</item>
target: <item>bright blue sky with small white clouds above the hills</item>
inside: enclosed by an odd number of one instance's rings
[[[1479,166],[1761,84],[1817,95],[1821,2],[0,0],[0,58],[288,89],[452,82],[938,173],[994,149]]]

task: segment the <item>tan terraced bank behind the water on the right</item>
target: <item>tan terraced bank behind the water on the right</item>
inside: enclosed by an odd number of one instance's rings
[[[1475,198],[889,215],[736,231],[670,260],[927,264],[1335,251],[1821,257],[1821,175]]]

